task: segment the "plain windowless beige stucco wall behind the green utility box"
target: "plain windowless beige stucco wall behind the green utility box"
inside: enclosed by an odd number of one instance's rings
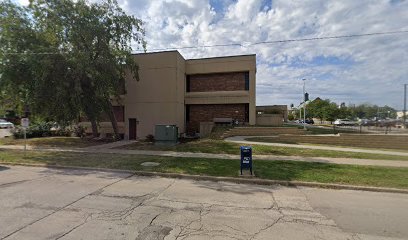
[[[140,81],[126,78],[125,138],[129,118],[136,118],[137,137],[154,134],[156,124],[175,124],[184,132],[184,59],[177,51],[137,54]]]

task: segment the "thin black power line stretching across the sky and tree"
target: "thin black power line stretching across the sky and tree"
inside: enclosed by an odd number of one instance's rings
[[[369,36],[379,36],[379,35],[393,35],[393,34],[403,34],[403,33],[408,33],[408,30],[350,34],[350,35],[336,35],[336,36],[325,36],[325,37],[283,39],[283,40],[261,41],[261,42],[254,42],[254,43],[227,43],[227,44],[213,44],[213,45],[154,48],[154,49],[150,49],[149,51],[166,51],[166,50],[175,50],[175,49],[196,49],[196,48],[215,48],[215,47],[248,47],[248,46],[256,46],[256,45],[262,45],[262,44],[319,41],[319,40],[357,38],[357,37],[369,37]],[[144,50],[135,50],[135,52],[143,52],[143,51]],[[64,52],[37,52],[37,53],[35,52],[5,52],[3,54],[5,55],[54,55],[54,54],[69,54],[69,53],[68,52],[67,53],[64,53]]]

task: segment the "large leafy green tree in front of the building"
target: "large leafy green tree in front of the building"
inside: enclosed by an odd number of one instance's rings
[[[0,87],[33,112],[69,123],[84,114],[94,136],[123,94],[126,74],[138,79],[132,45],[145,49],[141,20],[115,0],[0,3]]]

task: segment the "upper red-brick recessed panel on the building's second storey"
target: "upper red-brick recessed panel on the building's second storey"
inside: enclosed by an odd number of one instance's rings
[[[187,76],[187,92],[243,91],[248,72],[194,74]]]

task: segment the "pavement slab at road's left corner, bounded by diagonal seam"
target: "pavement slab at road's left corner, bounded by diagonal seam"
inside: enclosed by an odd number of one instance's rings
[[[24,179],[22,175],[29,169],[32,169],[28,174],[30,179],[14,182],[16,179]],[[126,176],[25,167],[10,167],[10,170],[0,171],[3,183],[14,182],[0,185],[0,239]]]

